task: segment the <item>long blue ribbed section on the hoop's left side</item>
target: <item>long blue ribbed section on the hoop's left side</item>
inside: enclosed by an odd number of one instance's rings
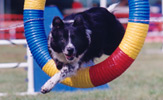
[[[44,30],[43,10],[24,10],[25,37],[30,51],[42,67],[51,60]]]

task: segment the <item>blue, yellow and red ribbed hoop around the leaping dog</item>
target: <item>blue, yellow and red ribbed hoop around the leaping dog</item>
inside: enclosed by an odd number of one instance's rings
[[[58,69],[48,52],[43,20],[34,20],[43,19],[45,2],[25,0],[24,27],[34,59],[46,74],[53,76]],[[132,64],[144,44],[149,27],[149,21],[146,20],[149,20],[150,12],[148,0],[128,0],[128,4],[129,22],[118,48],[105,61],[80,69],[77,75],[63,80],[63,84],[78,88],[103,85],[120,76]]]

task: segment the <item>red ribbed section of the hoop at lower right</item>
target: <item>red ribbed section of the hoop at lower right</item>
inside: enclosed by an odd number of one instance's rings
[[[94,86],[99,86],[112,81],[120,76],[134,61],[120,48],[102,63],[90,68],[90,78]],[[99,70],[100,68],[100,70]]]

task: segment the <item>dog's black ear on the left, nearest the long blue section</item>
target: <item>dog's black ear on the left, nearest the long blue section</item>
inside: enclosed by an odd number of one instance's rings
[[[64,23],[63,23],[62,19],[60,19],[57,16],[57,17],[54,17],[52,25],[53,25],[53,27],[59,29],[59,28],[63,28]]]

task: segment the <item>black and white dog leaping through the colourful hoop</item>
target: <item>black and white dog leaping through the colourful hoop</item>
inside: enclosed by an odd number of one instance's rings
[[[83,63],[102,54],[112,54],[124,32],[115,16],[101,7],[72,14],[63,20],[55,17],[48,49],[60,72],[44,84],[41,92],[49,92],[58,82],[74,75]]]

